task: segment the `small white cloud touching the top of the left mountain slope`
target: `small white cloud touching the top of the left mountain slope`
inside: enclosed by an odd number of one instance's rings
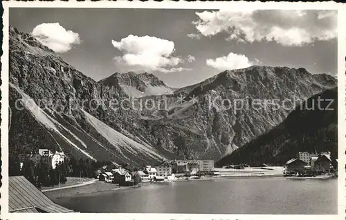
[[[31,32],[40,43],[55,52],[67,52],[73,44],[80,44],[80,35],[66,30],[60,23],[41,23]]]

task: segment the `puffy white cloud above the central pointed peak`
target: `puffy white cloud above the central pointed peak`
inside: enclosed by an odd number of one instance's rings
[[[172,72],[182,71],[174,68],[183,59],[173,57],[174,42],[157,37],[138,37],[130,34],[120,41],[111,41],[114,48],[122,52],[121,57],[114,57],[116,63],[132,70]]]

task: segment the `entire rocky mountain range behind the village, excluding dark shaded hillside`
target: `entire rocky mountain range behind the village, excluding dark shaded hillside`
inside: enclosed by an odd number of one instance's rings
[[[293,97],[307,99],[336,85],[327,74],[266,66],[221,72],[176,91],[148,73],[116,73],[96,82],[30,34],[10,28],[9,43],[10,153],[61,148],[137,164],[163,157],[219,159],[283,121]],[[129,98],[134,105],[122,103]],[[34,105],[21,101],[24,110],[17,110],[17,99],[33,99]],[[286,109],[263,103],[255,109],[256,99],[291,102]],[[244,108],[233,107],[241,100]],[[152,108],[137,108],[140,101],[152,101]]]

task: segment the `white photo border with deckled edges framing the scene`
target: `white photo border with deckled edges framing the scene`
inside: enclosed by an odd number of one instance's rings
[[[346,6],[328,2],[246,2],[246,1],[3,1],[3,56],[1,57],[1,219],[345,219],[345,150],[346,150],[346,101],[345,101],[345,57],[346,57]],[[338,10],[338,214],[95,214],[95,213],[8,213],[8,27],[9,8],[171,8],[239,10],[255,8],[262,10]]]

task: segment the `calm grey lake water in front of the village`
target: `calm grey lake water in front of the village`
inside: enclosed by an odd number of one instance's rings
[[[243,178],[152,183],[55,200],[79,212],[337,214],[336,179]]]

